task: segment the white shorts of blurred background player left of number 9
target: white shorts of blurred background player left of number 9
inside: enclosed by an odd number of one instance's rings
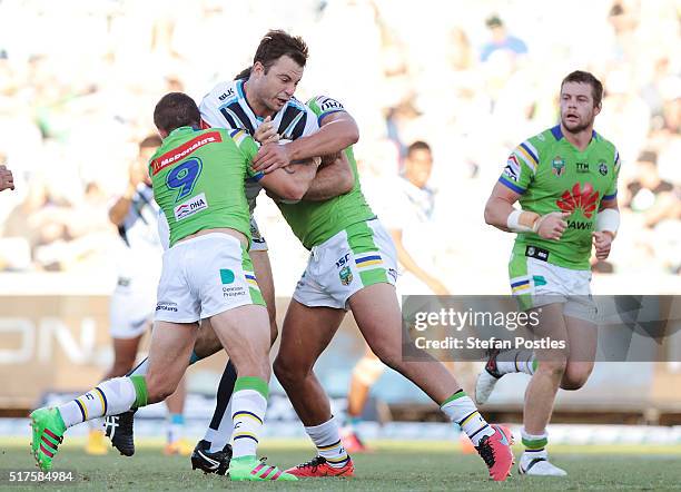
[[[158,277],[119,277],[109,304],[111,338],[137,338],[154,319]]]

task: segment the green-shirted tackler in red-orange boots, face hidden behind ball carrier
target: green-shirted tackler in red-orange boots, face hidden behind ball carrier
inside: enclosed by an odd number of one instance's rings
[[[307,105],[322,126],[325,118],[344,112],[338,101],[327,97],[313,98]],[[395,246],[362,194],[352,147],[344,152],[354,177],[349,193],[323,201],[278,203],[310,256],[284,319],[274,371],[317,447],[313,460],[287,472],[297,476],[354,474],[328,396],[313,371],[351,309],[381,361],[421,387],[462,426],[494,480],[506,480],[512,454],[504,432],[485,422],[443,364],[425,353],[418,354],[420,362],[404,361]]]

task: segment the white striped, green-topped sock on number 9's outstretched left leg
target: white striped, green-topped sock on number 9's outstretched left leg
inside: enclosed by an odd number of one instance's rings
[[[147,383],[142,376],[115,377],[57,409],[66,426],[71,427],[85,421],[145,406],[147,400]]]

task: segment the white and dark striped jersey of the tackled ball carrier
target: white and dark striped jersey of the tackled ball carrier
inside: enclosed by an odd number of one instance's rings
[[[255,135],[255,130],[263,124],[263,118],[250,109],[244,83],[245,80],[220,82],[204,97],[199,106],[204,128],[241,129],[250,136]],[[296,98],[290,98],[272,117],[272,121],[279,137],[286,140],[295,140],[319,129],[317,117]],[[246,181],[246,198],[251,214],[260,189],[263,187],[257,180]]]

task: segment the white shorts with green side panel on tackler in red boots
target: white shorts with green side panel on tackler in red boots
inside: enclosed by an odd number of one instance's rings
[[[294,298],[308,307],[347,309],[347,299],[373,284],[395,285],[397,252],[378,219],[353,224],[312,248]]]

